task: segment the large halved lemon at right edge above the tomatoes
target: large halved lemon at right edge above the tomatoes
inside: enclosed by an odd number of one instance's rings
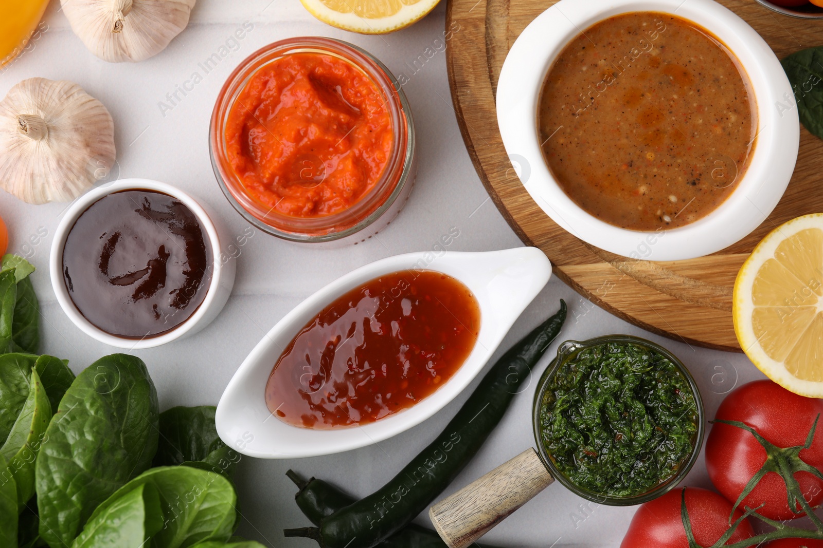
[[[734,330],[771,380],[823,398],[823,214],[775,228],[734,283]]]

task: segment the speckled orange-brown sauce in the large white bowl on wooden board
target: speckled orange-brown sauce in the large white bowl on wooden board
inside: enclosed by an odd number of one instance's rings
[[[728,48],[659,12],[600,21],[566,46],[537,123],[565,194],[597,219],[641,231],[717,209],[742,179],[757,127],[751,82]]]

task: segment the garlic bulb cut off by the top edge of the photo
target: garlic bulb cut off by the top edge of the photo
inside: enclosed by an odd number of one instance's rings
[[[142,61],[188,25],[196,0],[60,0],[74,34],[97,57]]]

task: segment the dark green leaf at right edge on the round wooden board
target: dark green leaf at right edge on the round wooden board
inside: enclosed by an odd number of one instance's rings
[[[806,129],[823,138],[823,46],[802,49],[780,62]]]

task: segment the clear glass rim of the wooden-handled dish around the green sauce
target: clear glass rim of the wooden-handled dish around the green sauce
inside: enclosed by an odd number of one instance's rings
[[[695,398],[695,404],[697,407],[697,432],[692,440],[691,452],[689,456],[683,460],[681,467],[678,468],[677,473],[674,476],[670,477],[667,481],[663,481],[658,484],[658,486],[655,486],[648,491],[644,491],[643,493],[639,493],[638,495],[622,497],[605,495],[603,493],[597,493],[578,486],[556,467],[554,461],[551,460],[551,455],[542,444],[540,437],[540,409],[543,394],[546,393],[549,382],[554,378],[554,375],[560,369],[560,364],[563,362],[564,358],[569,356],[572,352],[577,352],[583,348],[595,347],[604,343],[635,343],[644,347],[652,348],[656,352],[663,354],[663,356],[667,357],[669,361],[672,361],[672,363],[677,367],[677,371],[679,371],[683,378],[686,379],[686,382],[689,384],[691,389],[691,394]],[[546,466],[549,472],[551,472],[551,476],[557,481],[560,481],[566,489],[572,491],[575,495],[597,504],[606,504],[608,506],[633,506],[635,504],[649,502],[649,500],[665,495],[668,491],[677,487],[683,478],[686,477],[691,470],[691,467],[693,467],[695,462],[697,462],[697,458],[700,455],[700,447],[703,445],[703,438],[705,434],[705,412],[703,408],[703,399],[700,397],[700,389],[697,388],[697,383],[695,382],[694,377],[691,376],[691,373],[683,362],[672,354],[672,352],[657,343],[653,343],[645,338],[635,337],[634,335],[603,335],[601,337],[589,338],[585,341],[567,340],[560,343],[560,346],[557,348],[557,356],[551,361],[549,366],[546,367],[546,371],[543,371],[540,380],[537,382],[534,402],[532,403],[532,427],[534,430],[534,440],[537,444],[537,453],[540,455],[544,466]]]

